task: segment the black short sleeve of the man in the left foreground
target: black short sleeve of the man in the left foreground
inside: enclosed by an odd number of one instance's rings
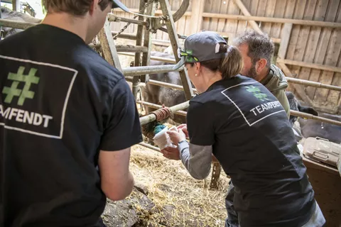
[[[142,133],[139,112],[125,79],[121,79],[112,90],[109,106],[100,149],[123,150],[140,143]]]

